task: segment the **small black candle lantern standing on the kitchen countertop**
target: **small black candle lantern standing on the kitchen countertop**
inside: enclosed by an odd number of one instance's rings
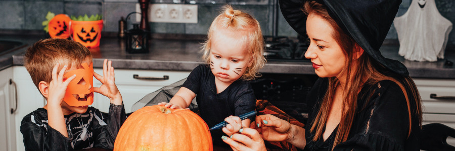
[[[149,32],[139,29],[139,24],[133,24],[133,29],[126,32],[126,51],[128,53],[149,53]]]

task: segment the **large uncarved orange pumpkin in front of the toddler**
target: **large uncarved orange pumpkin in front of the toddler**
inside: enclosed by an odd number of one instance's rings
[[[123,123],[115,139],[114,151],[213,150],[208,129],[204,120],[190,110],[146,106],[132,113]]]

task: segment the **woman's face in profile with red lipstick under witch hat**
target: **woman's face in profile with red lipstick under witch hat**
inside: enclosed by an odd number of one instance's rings
[[[329,22],[317,15],[309,15],[306,20],[306,33],[310,45],[305,57],[311,59],[319,77],[340,77],[344,69],[346,57],[340,45],[332,37],[333,27]]]

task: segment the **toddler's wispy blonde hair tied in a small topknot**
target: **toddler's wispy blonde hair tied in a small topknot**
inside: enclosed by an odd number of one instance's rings
[[[213,20],[208,31],[208,39],[203,46],[204,55],[202,58],[207,64],[210,63],[210,46],[211,40],[215,36],[219,36],[216,32],[219,29],[227,29],[233,32],[246,31],[239,40],[243,43],[249,44],[250,59],[253,59],[252,65],[248,67],[242,75],[243,80],[253,80],[260,77],[258,70],[265,64],[264,52],[264,39],[262,37],[261,27],[259,22],[247,13],[239,10],[234,10],[231,6],[226,5],[222,9],[222,13]]]

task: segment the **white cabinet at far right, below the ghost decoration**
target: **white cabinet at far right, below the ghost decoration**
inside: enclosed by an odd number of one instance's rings
[[[455,80],[414,79],[422,98],[423,123],[442,123],[455,128],[455,99],[432,99],[436,96],[455,97]],[[448,137],[447,143],[455,145],[455,138]]]

